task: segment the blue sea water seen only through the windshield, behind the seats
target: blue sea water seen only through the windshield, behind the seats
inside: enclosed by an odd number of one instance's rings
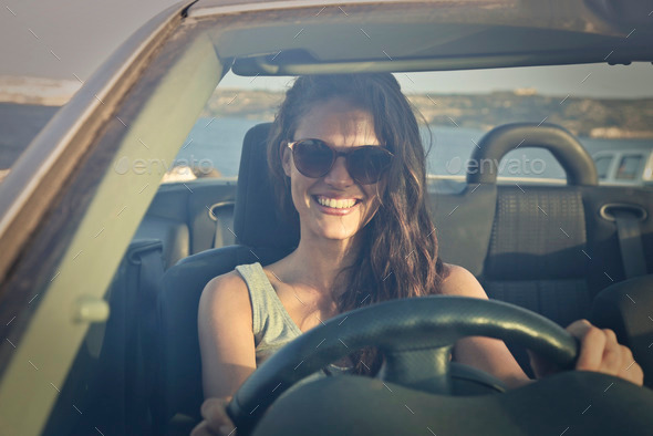
[[[260,120],[199,118],[177,155],[175,163],[211,166],[224,177],[238,175],[242,138]],[[431,131],[431,134],[429,134]],[[427,150],[427,173],[434,175],[464,175],[470,156],[486,132],[464,127],[422,127]],[[653,141],[579,138],[590,155],[604,149],[653,149]],[[488,168],[489,162],[471,162],[476,170]],[[474,166],[475,165],[475,166]],[[508,153],[499,163],[499,175],[514,177],[564,178],[564,170],[550,152],[541,148],[522,148]]]

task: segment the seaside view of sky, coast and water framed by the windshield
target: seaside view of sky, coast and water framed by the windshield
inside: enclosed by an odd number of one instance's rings
[[[610,153],[653,149],[651,65],[590,64],[456,72],[397,73],[423,115],[422,133],[433,178],[463,179],[488,163],[470,156],[489,129],[506,123],[553,123],[571,132],[597,157],[601,183],[643,185],[645,168],[633,157],[610,173]],[[292,77],[241,77],[220,83],[174,162],[164,183],[196,178],[235,180],[245,133],[271,122]],[[608,153],[608,155],[605,155]],[[621,168],[621,169],[620,169]],[[522,148],[498,163],[499,180],[563,181],[564,170],[546,149]]]

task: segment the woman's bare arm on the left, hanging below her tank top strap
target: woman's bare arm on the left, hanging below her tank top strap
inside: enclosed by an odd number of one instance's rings
[[[252,313],[247,284],[232,271],[207,283],[197,316],[205,421],[193,435],[229,434],[225,406],[256,370]],[[221,428],[221,430],[220,430]]]

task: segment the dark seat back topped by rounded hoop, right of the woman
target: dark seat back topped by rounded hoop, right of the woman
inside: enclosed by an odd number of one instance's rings
[[[582,187],[598,184],[591,156],[566,129],[553,124],[515,123],[486,134],[471,162],[491,163],[468,173],[467,181],[496,184],[498,163],[517,147],[551,152],[567,173],[566,186],[497,186],[488,252],[479,279],[490,298],[520,305],[566,326],[587,318],[592,295]],[[487,159],[487,160],[486,160]],[[477,165],[477,167],[487,167]],[[532,375],[524,349],[508,343]]]

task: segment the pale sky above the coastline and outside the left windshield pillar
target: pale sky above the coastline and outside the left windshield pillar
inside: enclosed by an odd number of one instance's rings
[[[0,75],[85,81],[138,27],[175,3],[175,0],[6,0],[0,10]],[[540,94],[552,95],[653,96],[650,63],[400,73],[397,77],[408,93],[485,93],[535,87]],[[230,75],[222,84],[282,90],[288,82],[288,77],[251,81],[251,77]]]

